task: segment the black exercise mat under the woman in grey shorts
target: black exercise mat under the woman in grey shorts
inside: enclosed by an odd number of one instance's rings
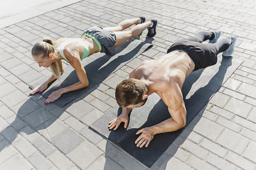
[[[90,89],[95,88],[95,86],[99,85],[110,74],[117,71],[117,69],[124,66],[124,64],[134,59],[134,57],[142,54],[142,52],[144,52],[147,48],[151,46],[152,45],[149,43],[142,42],[141,40],[133,38],[132,40],[129,40],[123,45],[117,47],[115,55],[112,57],[104,55],[101,52],[87,57],[85,60],[82,60],[82,64],[85,66],[85,71],[89,80],[89,86],[87,86],[85,89],[70,91],[66,94],[63,94],[62,96],[60,96],[60,98],[58,98],[58,100],[54,101],[53,103],[60,107],[63,107],[65,106],[65,104],[73,101],[75,98],[78,98],[82,94],[90,93]],[[53,84],[50,84],[48,86],[48,89],[46,89],[46,91],[43,91],[42,95],[47,98],[53,91],[66,86],[70,86],[79,81],[75,69],[73,69],[71,65],[65,67],[65,71],[63,75],[61,75],[61,80],[62,81],[57,80],[53,82]],[[46,81],[46,79],[38,81],[36,84],[33,84],[29,87],[33,89],[34,87],[38,86],[38,84],[41,84],[43,81]]]

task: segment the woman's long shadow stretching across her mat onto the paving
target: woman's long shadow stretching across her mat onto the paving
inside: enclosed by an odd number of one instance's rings
[[[124,45],[129,45],[134,40],[135,39],[129,40]],[[144,42],[140,42],[134,50],[127,52],[124,55],[119,55],[119,57],[107,64],[105,63],[108,60],[111,60],[111,57],[107,55],[103,55],[102,57],[96,59],[95,57],[91,57],[91,59],[89,57],[88,59],[90,61],[88,61],[89,63],[85,65],[85,69],[90,81],[90,86],[87,88],[87,90],[83,91],[85,94],[83,94],[82,97],[87,96],[92,90],[96,89],[97,86],[99,86],[102,81],[107,79],[107,77],[119,66],[120,63],[130,60],[132,57],[134,57],[134,55],[137,55],[137,52],[139,52],[143,45]],[[124,49],[124,47],[117,48],[117,52],[115,54],[121,52],[122,49]],[[71,72],[64,81],[74,82],[74,77],[77,78],[75,71]],[[60,84],[60,86],[63,85]],[[65,84],[65,86],[67,86],[67,84]],[[64,94],[63,97],[68,96],[65,96]],[[35,94],[34,96],[31,96],[30,99],[25,101],[20,108],[18,108],[15,120],[1,131],[1,135],[4,135],[8,142],[6,142],[6,145],[1,146],[0,152],[5,147],[11,145],[11,143],[16,140],[16,137],[20,133],[31,135],[34,132],[38,132],[38,130],[48,128],[50,125],[55,123],[55,121],[60,118],[60,115],[62,115],[63,112],[65,112],[65,110],[67,110],[73,103],[78,102],[80,98],[76,97],[76,100],[68,103],[64,108],[60,108],[53,103],[44,105],[44,100],[46,100],[46,98],[43,98],[40,94]],[[48,140],[52,141],[50,133],[48,134]]]

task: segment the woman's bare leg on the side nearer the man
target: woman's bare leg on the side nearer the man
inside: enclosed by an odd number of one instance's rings
[[[132,38],[140,35],[146,28],[149,28],[151,25],[152,21],[147,21],[146,23],[141,23],[137,26],[134,26],[131,30],[114,32],[117,38],[117,42],[114,44],[114,47],[118,47],[119,45],[124,44],[124,42],[127,42],[127,40],[131,40]]]

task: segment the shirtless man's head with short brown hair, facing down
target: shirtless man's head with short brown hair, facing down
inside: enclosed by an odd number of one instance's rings
[[[117,85],[115,97],[122,108],[136,108],[146,103],[148,89],[144,81],[124,79]]]

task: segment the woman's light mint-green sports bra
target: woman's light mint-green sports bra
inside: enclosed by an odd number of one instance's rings
[[[64,53],[63,53],[63,49],[65,48],[65,46],[67,46],[70,43],[79,43],[80,45],[82,45],[84,47],[84,54],[81,57],[81,61],[87,57],[90,54],[90,47],[87,45],[87,43],[85,43],[82,39],[80,38],[68,38],[67,40],[65,40],[64,42],[60,43],[59,45],[56,45],[55,48],[60,52],[60,55],[63,57],[64,60],[66,60],[68,62],[68,59],[65,57]]]

